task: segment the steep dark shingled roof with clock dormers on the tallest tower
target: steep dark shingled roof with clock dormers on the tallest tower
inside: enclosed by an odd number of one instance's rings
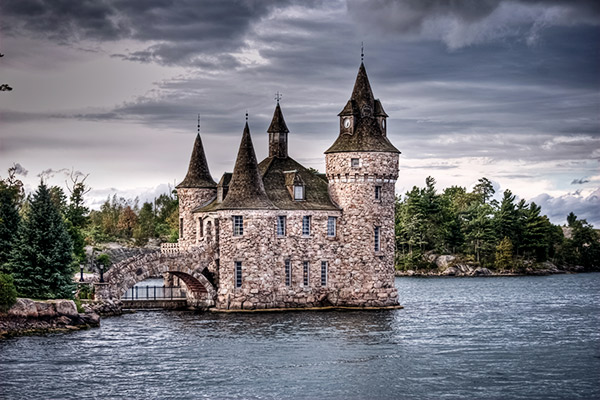
[[[373,97],[367,70],[360,64],[352,96],[339,116],[353,116],[354,132],[349,135],[340,133],[333,145],[325,153],[342,153],[353,151],[377,151],[400,153],[383,135],[377,116],[387,117],[379,100]]]

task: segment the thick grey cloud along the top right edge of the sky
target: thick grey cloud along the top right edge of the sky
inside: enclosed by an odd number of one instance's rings
[[[593,0],[348,0],[348,11],[365,32],[419,35],[451,49],[514,36],[534,44],[547,27],[597,25],[600,16]]]

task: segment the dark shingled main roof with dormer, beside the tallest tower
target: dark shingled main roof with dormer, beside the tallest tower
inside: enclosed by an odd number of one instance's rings
[[[327,180],[290,157],[267,157],[258,165],[269,200],[281,210],[339,210],[329,197]],[[287,181],[286,181],[287,178]],[[292,179],[293,178],[293,179]],[[289,184],[303,183],[305,199],[294,200]]]

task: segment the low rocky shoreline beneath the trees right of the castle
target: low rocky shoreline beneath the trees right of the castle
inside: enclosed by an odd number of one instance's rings
[[[396,270],[396,276],[536,276],[536,275],[555,275],[577,272],[586,272],[582,266],[557,266],[549,261],[539,264],[525,265],[521,269],[510,269],[494,271],[483,268],[477,263],[460,259],[455,255],[437,255],[433,253],[426,254],[425,260],[430,268],[408,269],[405,271]]]

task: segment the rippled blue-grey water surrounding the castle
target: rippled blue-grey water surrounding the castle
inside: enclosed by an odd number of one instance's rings
[[[396,285],[404,310],[138,312],[0,341],[0,398],[600,398],[600,274]]]

